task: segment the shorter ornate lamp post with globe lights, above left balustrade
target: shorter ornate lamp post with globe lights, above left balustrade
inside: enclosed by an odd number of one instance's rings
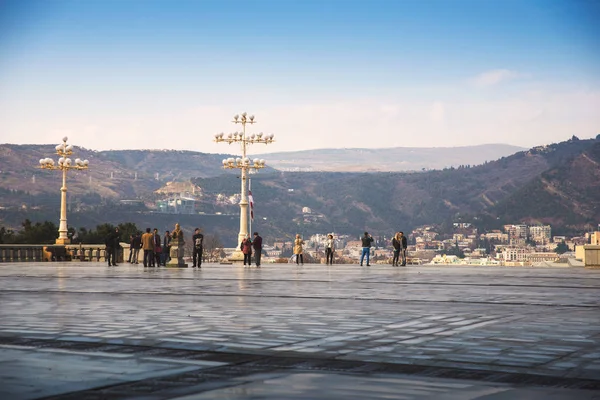
[[[73,145],[67,144],[66,136],[63,142],[56,146],[56,154],[60,157],[55,163],[51,158],[42,158],[40,160],[40,168],[42,169],[58,169],[63,173],[63,185],[60,188],[60,224],[58,226],[58,238],[56,244],[69,244],[71,240],[67,236],[67,171],[70,169],[88,169],[88,160],[80,160],[76,158],[73,161],[69,158],[73,154]]]

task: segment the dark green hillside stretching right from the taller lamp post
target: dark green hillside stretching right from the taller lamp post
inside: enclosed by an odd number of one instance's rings
[[[552,221],[555,232],[582,229],[600,222],[596,205],[600,179],[593,180],[599,173],[593,168],[600,163],[598,146],[600,140],[570,140],[480,166],[418,173],[261,175],[252,183],[255,215],[263,230],[284,237],[329,231],[358,235],[364,230],[389,235],[398,229],[460,220],[493,229],[537,218]],[[536,194],[536,182],[549,179],[552,182],[544,190],[559,188],[563,195],[559,203],[546,208],[549,200],[540,203],[542,193]],[[231,178],[195,183],[208,193],[235,190],[239,185]],[[531,199],[523,197],[522,190],[531,192]],[[545,212],[549,213],[546,219],[542,218]]]

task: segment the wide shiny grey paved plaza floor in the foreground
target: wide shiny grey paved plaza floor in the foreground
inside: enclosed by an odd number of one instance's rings
[[[600,399],[600,270],[0,264],[0,399]]]

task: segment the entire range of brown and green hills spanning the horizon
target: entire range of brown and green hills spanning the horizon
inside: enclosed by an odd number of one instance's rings
[[[25,218],[58,220],[58,173],[35,168],[37,160],[52,154],[52,149],[41,145],[0,146],[2,225],[18,227]],[[167,150],[77,150],[78,157],[90,160],[91,168],[70,173],[70,224],[93,227],[102,222],[135,222],[141,227],[160,225],[159,229],[168,229],[174,222],[182,222],[188,229],[201,225],[219,232],[225,244],[232,245],[225,237],[234,238],[237,234],[239,207],[235,201],[222,199],[239,193],[240,183],[235,172],[220,168],[221,159],[227,155]],[[342,157],[343,150],[338,157]],[[355,165],[358,150],[345,150],[346,163]],[[396,162],[396,156],[384,159],[386,152],[398,154],[392,150],[374,151],[382,159],[380,167]],[[471,154],[479,150],[462,148],[450,153]],[[465,156],[458,167],[453,166],[458,159],[444,159],[440,155],[443,151],[424,149],[422,154],[426,153],[440,163],[435,165],[447,167],[370,173],[265,169],[252,179],[255,227],[268,239],[291,237],[297,232],[358,235],[365,229],[389,235],[398,229],[410,231],[418,225],[443,225],[456,220],[474,222],[482,229],[498,228],[503,223],[551,223],[554,232],[576,231],[600,222],[600,138],[573,137],[566,142],[506,154],[493,161],[484,160],[481,165],[474,165]],[[320,154],[323,162],[332,162],[331,151],[323,150]],[[261,157],[277,160],[276,156],[274,153]],[[300,160],[300,156],[295,157]],[[414,171],[418,170],[415,165],[425,164],[412,165]],[[373,169],[367,166],[365,171]],[[121,199],[140,199],[150,206],[160,197],[155,191],[171,181],[191,181],[197,185],[202,191],[198,209],[206,215],[159,215],[150,209],[127,210],[119,206]],[[305,207],[311,212],[303,212]]]

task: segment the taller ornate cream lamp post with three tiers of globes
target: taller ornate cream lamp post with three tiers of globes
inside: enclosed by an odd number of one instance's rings
[[[223,132],[217,133],[215,135],[215,142],[221,143],[225,142],[228,144],[239,143],[242,148],[242,157],[238,158],[226,158],[223,160],[223,168],[225,169],[233,169],[237,168],[242,170],[242,188],[241,188],[241,200],[240,200],[240,233],[238,234],[238,247],[236,253],[234,253],[233,259],[240,257],[239,245],[244,240],[244,238],[248,235],[248,171],[250,170],[259,170],[265,167],[265,160],[255,158],[254,160],[250,160],[246,155],[246,147],[249,144],[254,143],[264,143],[269,144],[273,143],[273,134],[263,134],[262,132],[257,134],[246,134],[246,125],[247,124],[255,124],[256,120],[254,119],[254,115],[248,116],[246,113],[242,113],[242,115],[235,115],[233,117],[234,124],[241,124],[242,131],[234,132],[225,135]],[[243,256],[241,256],[243,258]]]

